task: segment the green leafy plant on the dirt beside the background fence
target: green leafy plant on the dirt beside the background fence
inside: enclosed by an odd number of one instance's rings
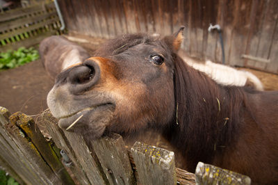
[[[7,51],[0,53],[0,70],[10,69],[35,61],[40,57],[38,51],[33,47],[26,49],[19,47],[15,51]]]

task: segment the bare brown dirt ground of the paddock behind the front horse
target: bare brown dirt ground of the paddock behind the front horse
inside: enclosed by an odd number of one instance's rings
[[[92,39],[90,45],[83,40],[76,40],[90,53],[97,48],[101,39]],[[278,90],[278,75],[245,69],[261,79],[265,90]],[[21,111],[27,115],[38,115],[47,109],[47,93],[53,86],[44,71],[40,60],[22,67],[0,72],[0,106],[8,108],[10,113]],[[34,117],[35,118],[35,117]]]

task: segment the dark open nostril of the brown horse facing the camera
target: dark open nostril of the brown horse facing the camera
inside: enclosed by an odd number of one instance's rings
[[[69,76],[72,84],[88,83],[95,76],[95,69],[88,65],[76,67]]]

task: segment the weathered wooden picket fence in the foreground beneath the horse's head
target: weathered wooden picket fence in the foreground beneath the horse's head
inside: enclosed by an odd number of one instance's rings
[[[118,134],[98,140],[61,130],[42,115],[51,140],[31,117],[0,106],[0,166],[20,184],[250,184],[249,177],[199,163],[195,175],[174,165],[174,152]]]

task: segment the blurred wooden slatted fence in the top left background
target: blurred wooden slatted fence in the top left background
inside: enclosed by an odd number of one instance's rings
[[[60,33],[53,1],[0,13],[0,51],[38,45],[42,39]]]

